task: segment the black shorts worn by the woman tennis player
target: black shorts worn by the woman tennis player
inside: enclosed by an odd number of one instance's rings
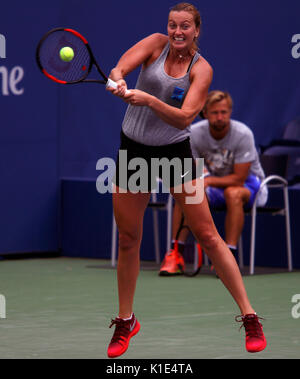
[[[149,146],[135,142],[121,132],[114,184],[129,192],[157,189],[157,178],[166,189],[182,185],[198,176],[190,139],[182,142]],[[201,172],[202,174],[202,172]]]

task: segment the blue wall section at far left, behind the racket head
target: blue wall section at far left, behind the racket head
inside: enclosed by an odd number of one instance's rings
[[[0,5],[6,40],[6,58],[0,59],[1,253],[58,246],[58,88],[45,86],[34,61],[41,31],[57,22],[55,7]],[[13,78],[15,70],[19,82],[7,90],[6,73]]]

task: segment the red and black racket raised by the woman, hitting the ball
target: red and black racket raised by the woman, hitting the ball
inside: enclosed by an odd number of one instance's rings
[[[74,52],[74,57],[68,62],[60,56],[64,47],[69,47]],[[101,70],[88,41],[76,30],[55,28],[46,33],[37,46],[36,61],[41,72],[56,83],[100,83],[106,87],[117,88],[117,83]],[[96,67],[101,80],[87,79],[93,66]]]

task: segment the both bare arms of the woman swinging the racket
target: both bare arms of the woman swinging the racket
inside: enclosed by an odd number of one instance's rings
[[[108,90],[114,95],[123,97],[132,105],[148,106],[169,125],[185,129],[203,108],[212,81],[213,71],[205,59],[200,58],[193,66],[190,74],[191,86],[180,109],[143,91],[134,89],[130,90],[130,94],[125,95],[127,85],[124,78],[126,75],[141,64],[144,66],[151,64],[159,56],[167,42],[166,35],[156,33],[130,48],[110,73],[110,78],[117,82],[118,89],[109,88]]]

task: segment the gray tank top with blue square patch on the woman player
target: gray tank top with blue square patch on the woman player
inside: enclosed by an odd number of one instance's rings
[[[169,53],[169,43],[160,56],[150,66],[142,69],[136,89],[147,92],[161,101],[177,108],[185,99],[190,88],[189,75],[191,68],[199,59],[196,53],[188,72],[181,78],[173,78],[165,72],[165,60]],[[122,130],[130,139],[150,146],[161,146],[178,143],[190,135],[190,126],[180,130],[160,119],[149,107],[129,105],[123,120]]]

